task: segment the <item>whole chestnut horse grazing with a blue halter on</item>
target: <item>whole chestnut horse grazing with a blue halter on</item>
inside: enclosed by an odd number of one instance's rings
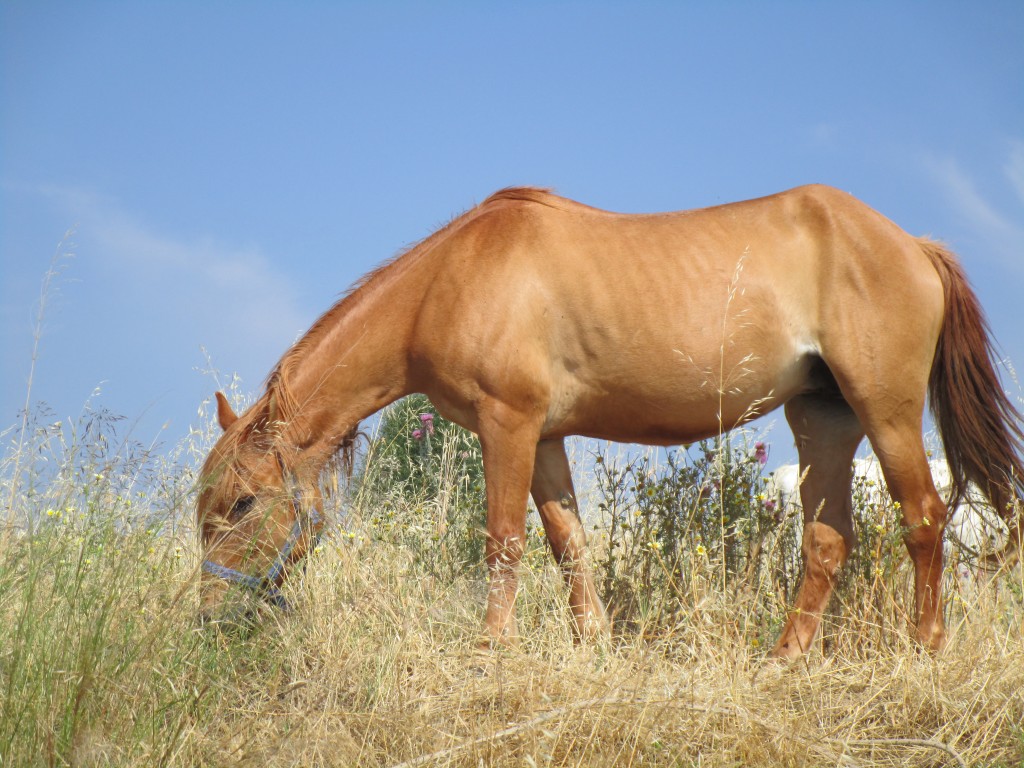
[[[942,530],[926,395],[953,498],[969,482],[1021,541],[1021,418],[999,386],[955,257],[854,198],[803,186],[651,215],[501,190],[360,281],[285,354],[203,468],[201,612],[232,584],[275,601],[323,525],[317,478],[360,420],[412,392],[476,432],[486,473],[488,642],[516,636],[527,496],[575,630],[608,618],[585,557],[566,435],[669,445],[785,407],[806,472],[805,575],[775,646],[811,644],[855,543],[851,463],[866,435],[903,515],[916,639],[942,646]]]

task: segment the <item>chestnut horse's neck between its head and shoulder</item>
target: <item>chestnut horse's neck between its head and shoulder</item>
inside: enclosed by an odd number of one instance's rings
[[[412,318],[378,292],[299,342],[303,352],[283,379],[295,409],[290,441],[310,464],[322,465],[361,420],[409,393]]]

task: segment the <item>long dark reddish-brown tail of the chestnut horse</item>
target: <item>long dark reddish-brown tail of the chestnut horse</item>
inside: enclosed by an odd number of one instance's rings
[[[1010,527],[1010,546],[1024,549],[1021,415],[999,384],[988,324],[959,262],[939,243],[918,242],[945,291],[929,394],[952,479],[948,502],[975,483]]]

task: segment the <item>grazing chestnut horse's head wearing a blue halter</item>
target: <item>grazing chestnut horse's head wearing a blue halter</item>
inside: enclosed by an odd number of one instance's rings
[[[286,607],[281,585],[324,527],[319,485],[294,469],[272,398],[240,418],[218,392],[217,417],[224,433],[203,466],[197,504],[204,621],[238,617],[253,596]]]

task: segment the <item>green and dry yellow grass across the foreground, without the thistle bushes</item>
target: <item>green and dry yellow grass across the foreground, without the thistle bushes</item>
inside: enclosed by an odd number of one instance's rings
[[[711,561],[679,585],[683,608],[671,616],[574,644],[560,578],[535,534],[521,644],[480,651],[478,565],[453,581],[400,543],[346,532],[289,585],[294,611],[218,633],[194,621],[196,545],[179,498],[187,472],[173,482],[156,473],[154,490],[129,503],[122,490],[135,480],[117,479],[109,452],[102,471],[72,454],[51,464],[75,471],[22,484],[33,493],[12,511],[34,515],[32,530],[0,532],[3,766],[1024,761],[1019,567],[956,594],[937,656],[907,639],[907,573],[896,567],[861,590],[876,603],[884,590],[884,624],[860,603],[838,604],[823,643],[782,667],[766,659],[765,628],[781,623],[784,605],[766,620],[751,594],[771,585],[723,592]],[[54,499],[60,514],[47,516]],[[351,514],[346,530],[369,535],[360,517],[375,515]]]

